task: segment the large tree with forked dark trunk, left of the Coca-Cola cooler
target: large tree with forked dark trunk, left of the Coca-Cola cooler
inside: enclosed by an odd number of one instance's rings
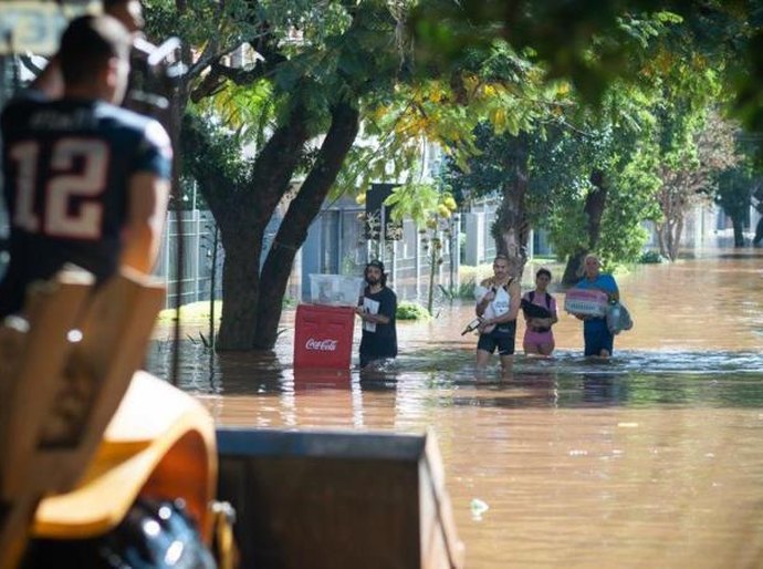
[[[180,149],[226,250],[217,348],[271,349],[294,256],[355,142],[362,100],[406,75],[400,13],[380,1],[300,0],[148,0],[146,12],[155,34],[177,33],[188,48]],[[257,58],[231,65],[242,53]]]

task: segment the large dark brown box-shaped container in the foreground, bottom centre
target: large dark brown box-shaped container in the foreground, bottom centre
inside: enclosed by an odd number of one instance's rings
[[[242,569],[463,565],[433,434],[218,430]]]

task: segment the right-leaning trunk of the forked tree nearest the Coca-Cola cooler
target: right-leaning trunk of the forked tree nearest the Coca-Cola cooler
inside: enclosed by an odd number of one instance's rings
[[[289,205],[262,267],[257,327],[252,328],[252,345],[255,349],[271,350],[275,344],[282,299],[294,257],[305,241],[307,229],[321,211],[342,163],[357,136],[358,117],[357,108],[348,103],[339,103],[332,108],[332,124],[321,145],[315,165]]]

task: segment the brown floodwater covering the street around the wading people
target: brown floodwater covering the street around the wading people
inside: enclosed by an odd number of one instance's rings
[[[384,372],[295,374],[288,313],[271,356],[186,342],[180,384],[224,425],[431,428],[472,569],[763,567],[763,255],[619,283],[636,327],[606,363],[562,314],[553,359],[475,377],[459,306],[400,323]],[[149,368],[168,361],[157,342]]]

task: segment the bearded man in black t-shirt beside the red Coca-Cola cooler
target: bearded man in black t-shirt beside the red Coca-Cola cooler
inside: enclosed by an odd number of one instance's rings
[[[360,368],[378,360],[397,356],[395,313],[397,296],[387,287],[384,263],[373,260],[364,271],[366,288],[355,312],[363,321]]]

